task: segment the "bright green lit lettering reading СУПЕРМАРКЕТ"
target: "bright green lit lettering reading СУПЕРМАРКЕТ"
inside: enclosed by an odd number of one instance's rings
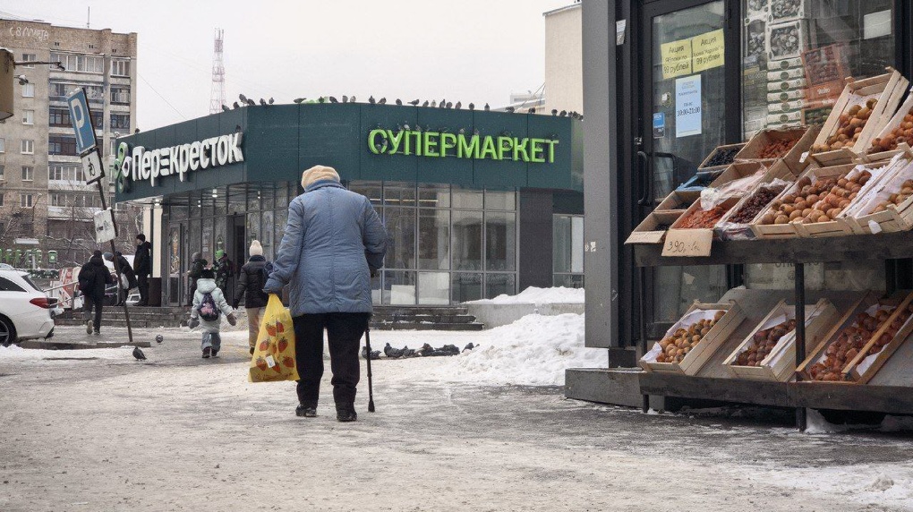
[[[472,135],[442,131],[383,130],[368,133],[374,154],[431,158],[467,158],[513,162],[553,163],[557,140],[507,135]]]

